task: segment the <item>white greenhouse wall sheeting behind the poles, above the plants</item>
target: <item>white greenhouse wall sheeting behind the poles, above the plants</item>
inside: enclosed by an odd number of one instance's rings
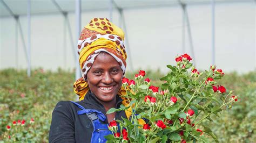
[[[211,5],[188,5],[196,66],[207,69],[211,65]],[[130,51],[127,68],[160,68],[174,65],[174,58],[181,54],[182,11],[179,6],[125,10],[126,39]],[[109,11],[83,12],[82,25],[93,17],[108,17]],[[112,22],[119,24],[118,13],[114,11]],[[215,6],[215,47],[216,65],[224,71],[237,70],[239,73],[254,70],[255,59],[255,4],[231,3]],[[64,41],[64,18],[62,15],[31,17],[31,63],[32,68],[43,67],[56,70],[58,67],[75,67],[69,35]],[[75,15],[69,15],[73,41],[75,40]],[[21,17],[26,41],[26,17]],[[15,56],[15,20],[0,19],[0,69],[17,67]],[[127,41],[126,41],[127,42]],[[65,46],[66,59],[65,62]],[[127,48],[127,47],[126,47]],[[188,35],[186,53],[191,54]],[[26,68],[25,53],[18,38],[18,68]]]

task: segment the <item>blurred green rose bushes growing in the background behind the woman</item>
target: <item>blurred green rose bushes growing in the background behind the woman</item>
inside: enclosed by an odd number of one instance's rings
[[[146,73],[144,78],[150,77],[154,86],[165,83],[158,80],[164,77],[159,70],[146,70]],[[133,78],[134,74],[126,73],[126,77]],[[51,113],[56,103],[77,99],[72,88],[74,81],[75,74],[62,69],[55,72],[34,69],[30,78],[25,70],[0,70],[0,141],[48,142]],[[214,123],[204,120],[201,126],[211,128],[220,142],[253,142],[256,140],[253,111],[256,71],[243,75],[225,73],[219,85],[235,90],[239,100],[228,113],[223,111],[221,116],[211,117]]]

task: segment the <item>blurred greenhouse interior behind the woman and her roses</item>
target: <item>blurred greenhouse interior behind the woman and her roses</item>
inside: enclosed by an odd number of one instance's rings
[[[208,124],[220,142],[256,140],[254,0],[0,0],[0,141],[47,142],[56,103],[76,100],[77,39],[94,17],[124,30],[127,77],[143,69],[160,85],[183,53],[199,70],[223,69],[240,99]],[[31,118],[30,131],[6,130]]]

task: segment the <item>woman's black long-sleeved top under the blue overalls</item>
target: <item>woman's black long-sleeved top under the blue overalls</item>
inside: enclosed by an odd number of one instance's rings
[[[104,106],[91,92],[87,92],[83,101],[77,102],[85,109],[98,110],[106,116]],[[116,108],[122,104],[122,98],[117,95]],[[49,132],[49,142],[91,142],[93,126],[86,114],[77,115],[80,109],[70,101],[60,101],[52,112]],[[126,118],[125,111],[116,112],[115,119]],[[107,118],[103,124],[107,124]]]

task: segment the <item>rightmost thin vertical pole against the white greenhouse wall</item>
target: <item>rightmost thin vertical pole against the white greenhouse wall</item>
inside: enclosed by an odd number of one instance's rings
[[[212,0],[212,65],[215,65],[215,1]]]

